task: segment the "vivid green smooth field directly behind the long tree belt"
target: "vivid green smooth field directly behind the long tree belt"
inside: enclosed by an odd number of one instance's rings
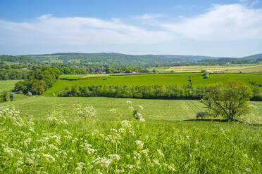
[[[243,81],[249,84],[249,81],[254,81],[258,84],[262,84],[261,74],[210,74],[208,79],[204,79],[203,74],[141,74],[141,75],[130,75],[130,76],[108,76],[108,79],[101,78],[90,78],[81,79],[77,81],[66,81],[59,80],[53,87],[49,88],[44,93],[46,96],[51,96],[52,93],[56,95],[65,89],[66,86],[74,85],[91,85],[91,84],[106,84],[106,85],[188,85],[188,76],[192,78],[193,86],[207,86],[211,83],[218,81],[227,81],[228,79],[235,79]]]

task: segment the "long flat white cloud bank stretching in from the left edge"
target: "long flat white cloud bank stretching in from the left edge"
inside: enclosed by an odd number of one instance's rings
[[[127,25],[118,18],[56,18],[42,15],[30,22],[0,20],[0,44],[154,44],[170,40],[165,31]]]

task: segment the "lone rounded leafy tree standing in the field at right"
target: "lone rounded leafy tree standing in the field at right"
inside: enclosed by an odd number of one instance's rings
[[[242,81],[226,81],[208,86],[201,102],[208,107],[208,114],[234,121],[249,112],[247,101],[251,96],[251,88]]]

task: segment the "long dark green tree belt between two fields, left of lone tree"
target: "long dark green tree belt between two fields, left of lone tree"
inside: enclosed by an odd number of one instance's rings
[[[70,91],[61,91],[60,97],[111,97],[151,99],[201,99],[206,89],[189,86],[72,86]]]

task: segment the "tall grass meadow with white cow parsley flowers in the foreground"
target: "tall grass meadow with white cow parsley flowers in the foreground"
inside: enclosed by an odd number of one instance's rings
[[[130,119],[118,121],[101,121],[91,105],[41,119],[1,107],[0,173],[261,172],[260,126],[146,122],[128,104]]]

